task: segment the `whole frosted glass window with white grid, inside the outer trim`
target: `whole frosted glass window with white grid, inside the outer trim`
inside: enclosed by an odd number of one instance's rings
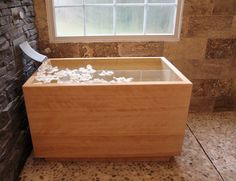
[[[176,36],[182,0],[49,0],[55,37]]]

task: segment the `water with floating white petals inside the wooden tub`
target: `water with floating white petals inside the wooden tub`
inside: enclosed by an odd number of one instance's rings
[[[95,70],[91,65],[75,69],[59,69],[43,63],[35,76],[35,84],[47,83],[129,83],[139,81],[164,81],[169,79],[170,70]]]

